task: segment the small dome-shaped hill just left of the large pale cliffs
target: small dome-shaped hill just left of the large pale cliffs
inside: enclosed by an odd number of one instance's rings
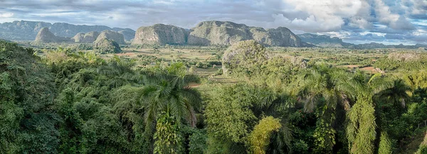
[[[120,53],[122,49],[120,49],[120,45],[116,43],[114,40],[110,40],[107,38],[102,38],[96,40],[93,48],[99,53]]]

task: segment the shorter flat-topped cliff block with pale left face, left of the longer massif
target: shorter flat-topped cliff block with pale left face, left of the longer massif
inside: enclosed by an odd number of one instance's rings
[[[185,45],[188,33],[184,28],[172,25],[156,24],[138,28],[132,45],[159,44]]]

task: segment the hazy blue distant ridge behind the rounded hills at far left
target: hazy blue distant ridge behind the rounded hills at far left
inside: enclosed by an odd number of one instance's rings
[[[73,25],[69,23],[45,23],[41,21],[14,21],[12,23],[0,23],[0,38],[7,40],[34,40],[38,31],[41,28],[47,27],[57,36],[73,37],[77,33],[89,33],[91,31],[128,31],[132,34],[135,33],[130,28],[110,28],[107,26],[86,26],[86,25]],[[131,38],[134,35],[130,36]]]

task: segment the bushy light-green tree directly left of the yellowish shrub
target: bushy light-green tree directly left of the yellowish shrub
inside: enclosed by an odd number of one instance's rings
[[[245,153],[247,141],[256,117],[251,111],[255,104],[246,84],[220,86],[209,94],[205,116],[208,133],[207,153]]]

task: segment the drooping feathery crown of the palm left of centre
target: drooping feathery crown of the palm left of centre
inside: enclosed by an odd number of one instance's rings
[[[145,122],[154,123],[162,111],[177,117],[177,121],[187,121],[190,126],[196,126],[195,109],[201,107],[201,96],[196,89],[189,87],[197,77],[185,75],[169,67],[169,70],[143,72],[145,86],[140,94],[140,101],[145,106]],[[173,73],[173,74],[171,74]]]

